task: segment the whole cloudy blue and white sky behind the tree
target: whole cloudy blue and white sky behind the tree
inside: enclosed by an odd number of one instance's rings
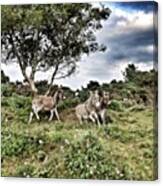
[[[112,11],[109,19],[103,22],[103,28],[96,33],[97,41],[107,46],[105,52],[96,52],[82,56],[77,71],[71,77],[56,80],[72,89],[86,86],[90,80],[109,83],[113,79],[123,80],[122,72],[128,64],[142,71],[153,68],[153,58],[157,52],[154,47],[155,4],[147,2],[103,3]],[[92,3],[99,6],[99,3]],[[4,65],[1,68],[12,81],[22,81],[23,76],[17,64]],[[36,80],[50,80],[51,73],[38,72]]]

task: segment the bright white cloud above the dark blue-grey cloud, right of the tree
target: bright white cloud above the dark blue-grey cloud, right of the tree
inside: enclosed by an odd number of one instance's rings
[[[104,27],[97,37],[100,41],[105,41],[106,37],[111,38],[122,33],[151,28],[154,25],[153,18],[152,12],[146,13],[142,10],[131,12],[112,7],[110,18],[104,22]]]

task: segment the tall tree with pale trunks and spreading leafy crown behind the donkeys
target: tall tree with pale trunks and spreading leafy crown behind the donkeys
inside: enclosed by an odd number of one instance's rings
[[[107,20],[111,13],[104,6],[12,5],[2,6],[1,11],[4,62],[16,60],[33,92],[37,92],[37,71],[52,72],[48,94],[55,79],[75,72],[82,54],[106,49],[95,37],[95,32],[102,28],[102,20]]]

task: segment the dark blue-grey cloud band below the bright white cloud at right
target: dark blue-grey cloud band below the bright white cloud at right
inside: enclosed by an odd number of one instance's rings
[[[133,62],[148,62],[153,60],[153,51],[148,50],[154,44],[153,28],[132,30],[108,38],[109,61],[127,60]]]

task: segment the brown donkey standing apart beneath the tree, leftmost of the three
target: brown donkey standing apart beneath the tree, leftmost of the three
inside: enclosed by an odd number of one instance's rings
[[[61,88],[58,88],[53,96],[36,95],[32,100],[32,111],[30,113],[28,123],[31,123],[34,114],[37,120],[40,120],[40,117],[38,115],[40,111],[50,111],[49,121],[53,119],[54,113],[57,117],[57,120],[60,121],[57,106],[59,101],[63,99],[63,90]]]

